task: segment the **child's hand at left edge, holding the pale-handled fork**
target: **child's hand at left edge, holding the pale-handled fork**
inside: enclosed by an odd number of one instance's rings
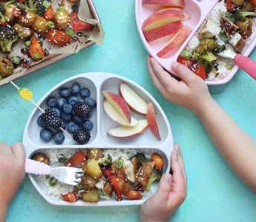
[[[24,161],[25,153],[21,143],[11,147],[0,143],[0,206],[3,208],[7,208],[22,183],[25,173]]]

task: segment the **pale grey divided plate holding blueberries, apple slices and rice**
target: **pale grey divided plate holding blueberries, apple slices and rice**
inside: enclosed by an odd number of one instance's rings
[[[171,127],[168,123],[168,119],[165,116],[160,105],[157,101],[150,95],[146,90],[144,90],[140,85],[134,83],[128,78],[123,78],[119,75],[114,75],[110,73],[84,73],[81,75],[75,75],[71,78],[62,81],[57,84],[51,90],[49,90],[39,101],[39,106],[43,110],[47,107],[46,98],[49,95],[58,95],[59,88],[62,87],[71,87],[74,82],[79,82],[82,87],[88,87],[91,90],[91,97],[96,100],[97,106],[96,110],[93,111],[93,116],[91,121],[93,121],[93,129],[91,130],[91,139],[88,141],[88,144],[79,145],[76,144],[73,139],[65,136],[65,142],[61,145],[53,144],[53,142],[45,143],[39,137],[40,128],[36,120],[39,115],[42,114],[40,110],[34,108],[31,112],[30,117],[27,120],[27,124],[24,128],[23,143],[26,149],[26,156],[30,158],[36,152],[42,152],[46,149],[70,149],[76,151],[77,149],[89,149],[102,148],[102,149],[137,149],[139,152],[143,150],[151,150],[152,152],[159,152],[162,155],[164,160],[163,172],[169,172],[170,170],[170,156],[173,149],[173,138]],[[103,110],[103,96],[102,90],[108,90],[111,92],[118,93],[119,84],[125,82],[134,89],[145,101],[151,100],[154,104],[154,110],[156,112],[157,123],[160,129],[160,135],[162,140],[158,141],[157,138],[151,133],[150,129],[140,135],[137,138],[128,141],[117,140],[114,138],[108,137],[106,131],[117,127],[118,124],[114,123],[108,115]],[[132,112],[134,118],[140,120],[142,115],[137,115]],[[86,203],[84,201],[77,201],[75,203],[68,203],[62,201],[61,199],[53,198],[50,195],[47,195],[47,188],[42,181],[39,180],[36,175],[29,175],[30,181],[37,191],[45,198],[46,201],[55,205],[66,205],[66,206],[124,206],[124,205],[140,205],[147,198],[142,198],[140,201],[116,201],[115,198],[112,198],[109,201],[100,200],[99,203]]]

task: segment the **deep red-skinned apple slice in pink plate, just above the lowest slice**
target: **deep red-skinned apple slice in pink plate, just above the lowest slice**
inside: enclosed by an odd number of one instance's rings
[[[143,34],[145,36],[145,40],[150,42],[158,38],[162,38],[164,36],[177,33],[182,27],[183,27],[183,24],[181,21],[174,21],[174,22],[171,22],[170,24],[165,24],[164,26],[159,27],[157,29],[145,31],[143,32]]]

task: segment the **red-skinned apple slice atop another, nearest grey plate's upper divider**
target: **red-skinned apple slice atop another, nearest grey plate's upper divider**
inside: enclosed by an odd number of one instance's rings
[[[106,90],[102,90],[102,95],[111,104],[112,107],[122,116],[127,124],[131,124],[131,110],[128,104],[123,100],[123,98],[114,93]]]

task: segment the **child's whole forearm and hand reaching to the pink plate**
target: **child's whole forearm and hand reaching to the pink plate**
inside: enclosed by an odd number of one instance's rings
[[[176,62],[172,68],[182,81],[172,78],[154,58],[148,58],[148,71],[157,89],[168,101],[197,115],[225,161],[256,192],[256,141],[214,101],[200,77]]]

